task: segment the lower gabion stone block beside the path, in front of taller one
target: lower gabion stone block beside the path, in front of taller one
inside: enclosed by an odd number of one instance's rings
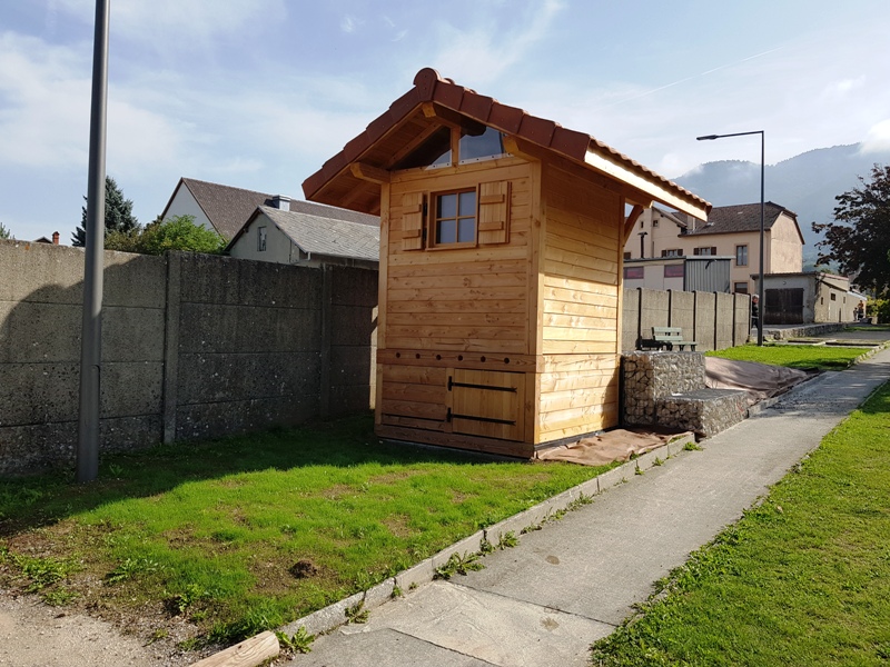
[[[655,401],[659,426],[691,430],[705,438],[739,424],[746,412],[745,392],[735,389],[698,389]]]

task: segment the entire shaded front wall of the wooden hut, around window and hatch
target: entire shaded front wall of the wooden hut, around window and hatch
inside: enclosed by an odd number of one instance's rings
[[[532,201],[536,201],[533,191],[538,187],[533,181],[537,173],[540,170],[528,162],[507,158],[395,173],[389,185],[384,186],[383,200],[388,202],[388,215],[384,215],[382,227],[382,249],[387,261],[385,269],[380,262],[377,356],[380,435],[456,447],[473,447],[474,437],[520,442],[528,439],[524,396],[527,378],[533,376],[524,374],[534,372],[531,347],[535,334],[528,325],[534,308],[528,296],[532,283],[528,255]],[[506,242],[479,242],[474,248],[419,247],[419,239],[413,236],[417,225],[416,193],[431,201],[433,192],[502,181],[508,182]],[[505,430],[500,425],[473,427],[459,420],[448,421],[447,411],[455,407],[448,378],[459,369],[472,380],[467,384],[518,386],[517,396],[523,398],[517,426]],[[451,434],[458,431],[463,435],[452,438]],[[530,454],[527,447],[517,447],[505,444],[503,452]],[[496,449],[482,440],[477,448]]]

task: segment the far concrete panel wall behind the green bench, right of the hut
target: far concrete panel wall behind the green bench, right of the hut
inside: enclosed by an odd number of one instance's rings
[[[723,292],[686,292],[635,288],[624,290],[622,350],[636,349],[640,337],[651,338],[652,327],[680,327],[699,350],[748,342],[751,298]]]

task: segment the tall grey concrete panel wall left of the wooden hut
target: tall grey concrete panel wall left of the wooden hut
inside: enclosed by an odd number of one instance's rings
[[[368,409],[376,271],[182,252],[105,267],[101,452]],[[82,250],[0,241],[0,475],[73,464],[82,278]]]

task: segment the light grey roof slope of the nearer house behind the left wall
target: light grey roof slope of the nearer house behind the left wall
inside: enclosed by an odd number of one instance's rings
[[[304,252],[379,261],[379,227],[283,211],[269,206],[261,206],[259,210]]]

